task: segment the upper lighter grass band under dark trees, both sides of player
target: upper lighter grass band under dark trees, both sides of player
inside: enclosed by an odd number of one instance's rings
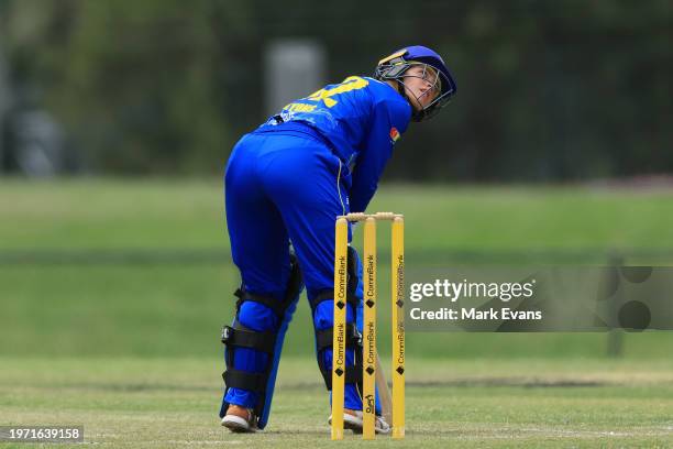
[[[3,179],[0,249],[228,249],[220,180]],[[408,250],[673,251],[673,193],[588,187],[383,185]]]

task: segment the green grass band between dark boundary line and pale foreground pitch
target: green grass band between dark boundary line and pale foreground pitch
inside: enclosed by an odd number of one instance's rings
[[[203,265],[10,266],[0,269],[0,354],[203,355],[219,358],[220,328],[233,313],[238,274]],[[312,357],[301,298],[285,351]],[[379,347],[388,352],[387,302]],[[606,357],[606,333],[408,332],[409,353],[431,358]],[[625,357],[673,353],[673,332],[628,333]]]

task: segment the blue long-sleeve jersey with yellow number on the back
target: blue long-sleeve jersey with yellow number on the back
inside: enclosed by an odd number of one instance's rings
[[[283,108],[285,123],[304,123],[327,140],[341,160],[350,209],[364,211],[393,147],[407,130],[411,106],[390,85],[351,76]],[[271,121],[271,120],[269,120]]]

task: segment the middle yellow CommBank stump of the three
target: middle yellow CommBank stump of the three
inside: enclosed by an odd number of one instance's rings
[[[368,217],[364,223],[364,319],[363,319],[363,431],[364,439],[375,436],[376,385],[376,220]]]

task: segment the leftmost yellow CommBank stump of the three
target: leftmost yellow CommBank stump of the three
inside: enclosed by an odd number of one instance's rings
[[[349,222],[336,219],[334,232],[334,331],[332,339],[332,439],[343,439],[345,380],[345,307]]]

